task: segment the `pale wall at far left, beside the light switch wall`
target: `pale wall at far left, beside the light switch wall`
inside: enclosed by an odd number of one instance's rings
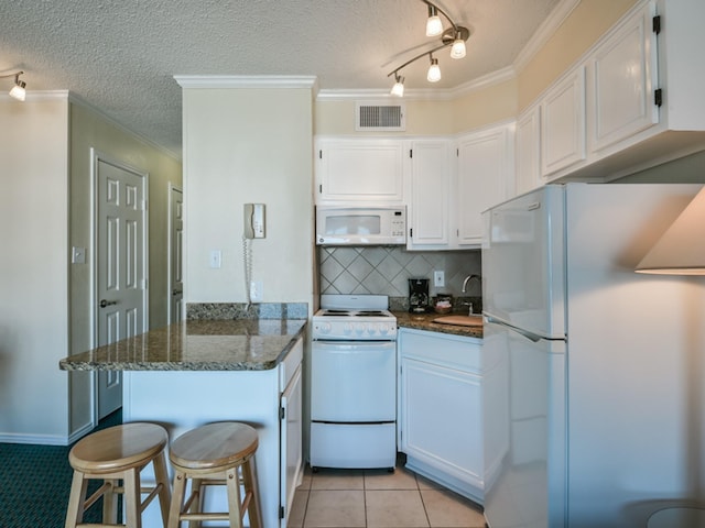
[[[0,98],[0,441],[68,431],[68,100]]]

